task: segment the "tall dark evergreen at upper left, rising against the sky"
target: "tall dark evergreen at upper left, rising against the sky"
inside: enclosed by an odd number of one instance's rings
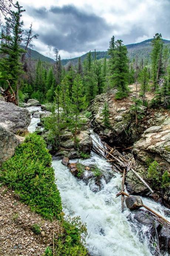
[[[0,53],[5,57],[0,60],[0,69],[4,80],[8,80],[11,88],[16,90],[20,75],[23,73],[20,57],[24,50],[20,47],[20,44],[23,40],[23,21],[21,21],[21,17],[25,10],[18,2],[14,7],[17,11],[11,10],[10,17],[6,17],[11,34],[3,35],[5,42],[1,44]]]

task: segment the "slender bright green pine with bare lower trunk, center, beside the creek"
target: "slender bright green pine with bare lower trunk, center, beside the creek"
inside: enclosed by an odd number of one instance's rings
[[[72,113],[74,114],[72,119],[74,123],[74,148],[76,148],[77,128],[79,128],[82,124],[80,113],[86,108],[86,96],[84,95],[84,87],[79,74],[76,75],[74,79],[72,88],[72,102]]]

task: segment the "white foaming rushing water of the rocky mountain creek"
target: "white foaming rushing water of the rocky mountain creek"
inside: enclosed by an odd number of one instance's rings
[[[35,130],[33,122],[29,129]],[[98,135],[92,133],[91,136],[101,143]],[[144,239],[141,243],[138,234],[132,231],[130,222],[127,221],[129,209],[122,213],[121,198],[115,197],[121,190],[120,174],[114,173],[111,165],[93,152],[91,158],[79,162],[85,165],[97,164],[103,173],[113,175],[109,183],[103,179],[102,189],[94,193],[96,185],[93,181],[86,185],[82,180],[75,178],[61,161],[52,162],[65,214],[80,216],[87,224],[89,238],[86,243],[91,255],[151,256],[147,241]],[[144,204],[164,216],[164,207],[148,198],[142,199]],[[139,232],[145,233],[146,229],[145,226],[141,226]]]

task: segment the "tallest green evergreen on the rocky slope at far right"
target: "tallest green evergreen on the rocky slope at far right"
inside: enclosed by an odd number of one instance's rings
[[[155,34],[152,40],[152,52],[151,52],[151,67],[152,67],[152,80],[154,89],[156,89],[157,80],[162,75],[162,35]]]

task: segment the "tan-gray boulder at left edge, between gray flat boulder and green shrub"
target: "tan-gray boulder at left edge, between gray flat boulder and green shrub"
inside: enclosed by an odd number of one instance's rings
[[[14,155],[19,144],[17,136],[0,125],[0,165]]]

